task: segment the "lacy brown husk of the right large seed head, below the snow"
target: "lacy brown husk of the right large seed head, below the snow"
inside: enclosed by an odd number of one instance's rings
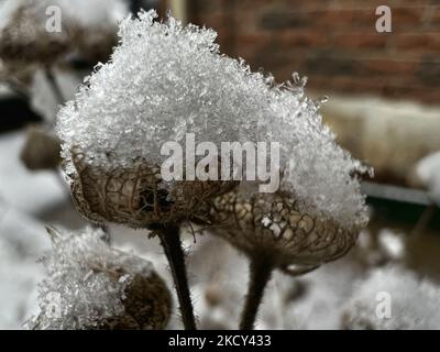
[[[275,267],[296,273],[337,260],[354,244],[360,228],[343,227],[300,210],[287,194],[231,191],[216,200],[212,232],[253,260],[264,257]]]

